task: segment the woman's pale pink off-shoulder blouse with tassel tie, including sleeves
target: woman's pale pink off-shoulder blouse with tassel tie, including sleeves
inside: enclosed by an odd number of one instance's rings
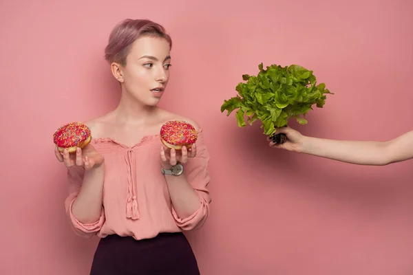
[[[92,139],[91,144],[105,157],[103,206],[100,219],[81,223],[72,214],[72,203],[83,182],[84,169],[67,169],[70,195],[65,208],[74,231],[86,237],[108,234],[148,239],[160,232],[180,232],[200,228],[209,215],[209,153],[204,144],[202,129],[198,132],[197,155],[184,164],[189,184],[198,193],[200,208],[181,219],[169,197],[165,175],[160,172],[159,135],[149,135],[131,147],[111,138]]]

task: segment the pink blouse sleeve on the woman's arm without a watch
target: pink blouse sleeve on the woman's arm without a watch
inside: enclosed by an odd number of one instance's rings
[[[105,211],[102,207],[100,217],[98,221],[94,223],[81,223],[76,219],[76,217],[74,217],[72,213],[72,205],[74,203],[74,200],[78,196],[79,191],[81,190],[84,174],[85,170],[82,167],[71,167],[67,169],[67,179],[69,180],[69,196],[67,197],[67,199],[65,199],[65,209],[74,232],[79,236],[90,238],[102,228],[103,223],[105,222]]]

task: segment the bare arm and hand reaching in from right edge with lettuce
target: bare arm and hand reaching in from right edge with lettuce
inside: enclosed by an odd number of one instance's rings
[[[387,142],[326,140],[306,137],[286,126],[277,129],[277,133],[286,134],[283,144],[276,144],[268,137],[270,146],[288,151],[317,155],[360,165],[388,165],[413,158],[413,131],[409,131]]]

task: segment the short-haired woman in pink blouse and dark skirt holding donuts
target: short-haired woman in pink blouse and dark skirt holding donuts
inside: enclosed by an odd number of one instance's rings
[[[105,58],[120,83],[113,111],[85,122],[93,140],[55,155],[68,168],[65,201],[75,232],[100,237],[92,275],[200,274],[182,231],[209,215],[209,154],[202,128],[157,107],[171,67],[171,38],[158,23],[127,19],[109,36]],[[185,120],[198,141],[182,153],[160,142],[160,126]],[[161,169],[183,164],[181,175]]]

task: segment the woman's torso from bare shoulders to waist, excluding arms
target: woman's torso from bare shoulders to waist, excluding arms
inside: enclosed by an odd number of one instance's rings
[[[160,171],[160,127],[182,119],[164,112],[136,126],[116,123],[111,114],[86,122],[92,146],[105,158],[105,223],[98,236],[118,234],[145,239],[159,232],[180,232],[171,214],[171,199]]]

